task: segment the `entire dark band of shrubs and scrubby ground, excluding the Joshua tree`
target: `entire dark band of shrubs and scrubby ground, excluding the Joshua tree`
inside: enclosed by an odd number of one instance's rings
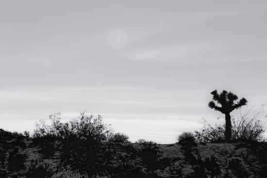
[[[265,124],[256,119],[263,110],[250,117],[251,111],[233,118],[235,143],[224,143],[225,124],[212,126],[203,119],[201,131],[183,132],[169,145],[145,139],[130,143],[100,115],[81,112],[62,123],[55,113],[50,125],[35,124],[33,137],[0,129],[0,177],[266,178]]]

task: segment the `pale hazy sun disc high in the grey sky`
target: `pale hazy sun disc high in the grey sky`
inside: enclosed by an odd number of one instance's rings
[[[115,29],[109,33],[108,43],[114,49],[120,49],[126,46],[128,35],[122,29]]]

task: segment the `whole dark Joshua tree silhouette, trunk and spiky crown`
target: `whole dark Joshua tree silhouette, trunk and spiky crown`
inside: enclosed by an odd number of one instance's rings
[[[208,106],[215,111],[219,111],[225,114],[225,139],[227,142],[231,140],[232,136],[232,124],[231,124],[231,116],[230,113],[235,109],[241,108],[242,106],[248,103],[247,99],[242,97],[237,103],[234,103],[238,99],[236,95],[234,95],[231,91],[228,93],[227,91],[223,90],[220,94],[217,93],[217,90],[211,92],[213,95],[213,101],[210,101]],[[220,104],[221,107],[217,106]]]

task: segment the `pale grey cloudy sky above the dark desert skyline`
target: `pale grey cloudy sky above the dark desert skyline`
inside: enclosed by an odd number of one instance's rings
[[[224,122],[215,89],[267,103],[266,49],[265,0],[2,0],[0,128],[86,110],[132,142],[175,143]]]

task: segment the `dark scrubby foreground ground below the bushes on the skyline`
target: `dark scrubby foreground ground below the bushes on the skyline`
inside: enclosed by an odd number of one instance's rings
[[[266,143],[101,143],[66,150],[1,131],[0,178],[267,178]]]

